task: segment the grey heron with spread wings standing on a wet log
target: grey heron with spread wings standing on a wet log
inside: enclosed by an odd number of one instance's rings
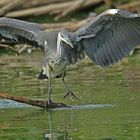
[[[51,102],[51,79],[55,77],[62,78],[68,90],[65,97],[74,96],[64,80],[67,65],[75,64],[86,54],[95,64],[107,67],[120,61],[140,44],[140,16],[109,9],[75,32],[66,29],[48,32],[37,23],[2,17],[0,38],[44,49],[39,78],[48,78],[48,101]]]

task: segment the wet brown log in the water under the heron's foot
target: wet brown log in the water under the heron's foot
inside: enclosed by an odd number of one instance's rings
[[[32,106],[37,106],[43,109],[52,109],[52,108],[61,108],[61,107],[70,107],[64,103],[55,103],[55,102],[51,102],[50,104],[48,103],[47,100],[37,100],[37,99],[30,99],[24,96],[14,96],[14,95],[10,95],[7,93],[0,93],[0,97],[2,98],[6,98],[6,99],[10,99],[13,101],[17,101],[20,103],[25,103],[28,105],[32,105]]]

